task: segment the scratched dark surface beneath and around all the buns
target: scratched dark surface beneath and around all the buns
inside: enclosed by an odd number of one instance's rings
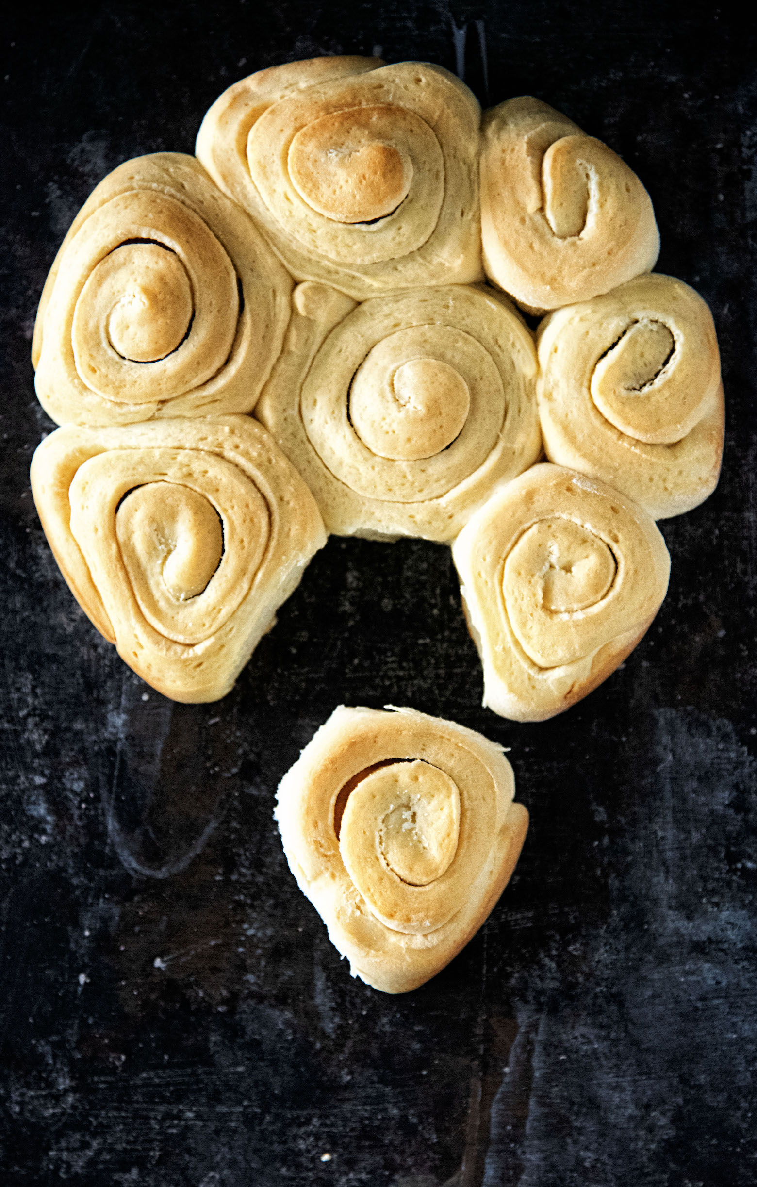
[[[8,1187],[748,1187],[757,1181],[757,43],[711,5],[17,5],[4,18],[0,1178]],[[449,550],[332,539],[234,693],[173,705],[85,620],[27,469],[28,363],[70,220],[192,152],[230,82],[319,53],[533,93],[648,186],[660,271],[712,306],[724,474],[662,525],[668,599],[566,716],[482,681]],[[485,57],[482,55],[482,47]],[[276,783],[339,702],[513,748],[532,830],[424,989],[351,980],[298,891]],[[322,1161],[322,1155],[331,1159]]]

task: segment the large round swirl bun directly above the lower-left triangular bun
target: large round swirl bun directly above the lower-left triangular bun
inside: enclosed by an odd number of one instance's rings
[[[250,412],[281,348],[292,280],[193,157],[109,173],[43,290],[32,362],[57,424]]]

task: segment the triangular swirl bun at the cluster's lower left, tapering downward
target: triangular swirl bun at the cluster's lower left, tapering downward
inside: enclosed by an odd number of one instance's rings
[[[32,491],[77,602],[172,700],[218,700],[326,542],[316,502],[249,417],[68,425]]]

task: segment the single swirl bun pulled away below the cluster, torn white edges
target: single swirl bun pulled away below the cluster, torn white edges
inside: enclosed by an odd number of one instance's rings
[[[523,845],[514,795],[481,734],[413,709],[335,710],[281,780],[275,819],[354,977],[406,994],[467,944]]]

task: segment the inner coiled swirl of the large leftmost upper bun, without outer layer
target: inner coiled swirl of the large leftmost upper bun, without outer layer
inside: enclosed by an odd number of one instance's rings
[[[197,212],[158,190],[120,193],[75,241],[62,330],[91,392],[155,404],[217,374],[237,332],[240,290],[223,243]]]

